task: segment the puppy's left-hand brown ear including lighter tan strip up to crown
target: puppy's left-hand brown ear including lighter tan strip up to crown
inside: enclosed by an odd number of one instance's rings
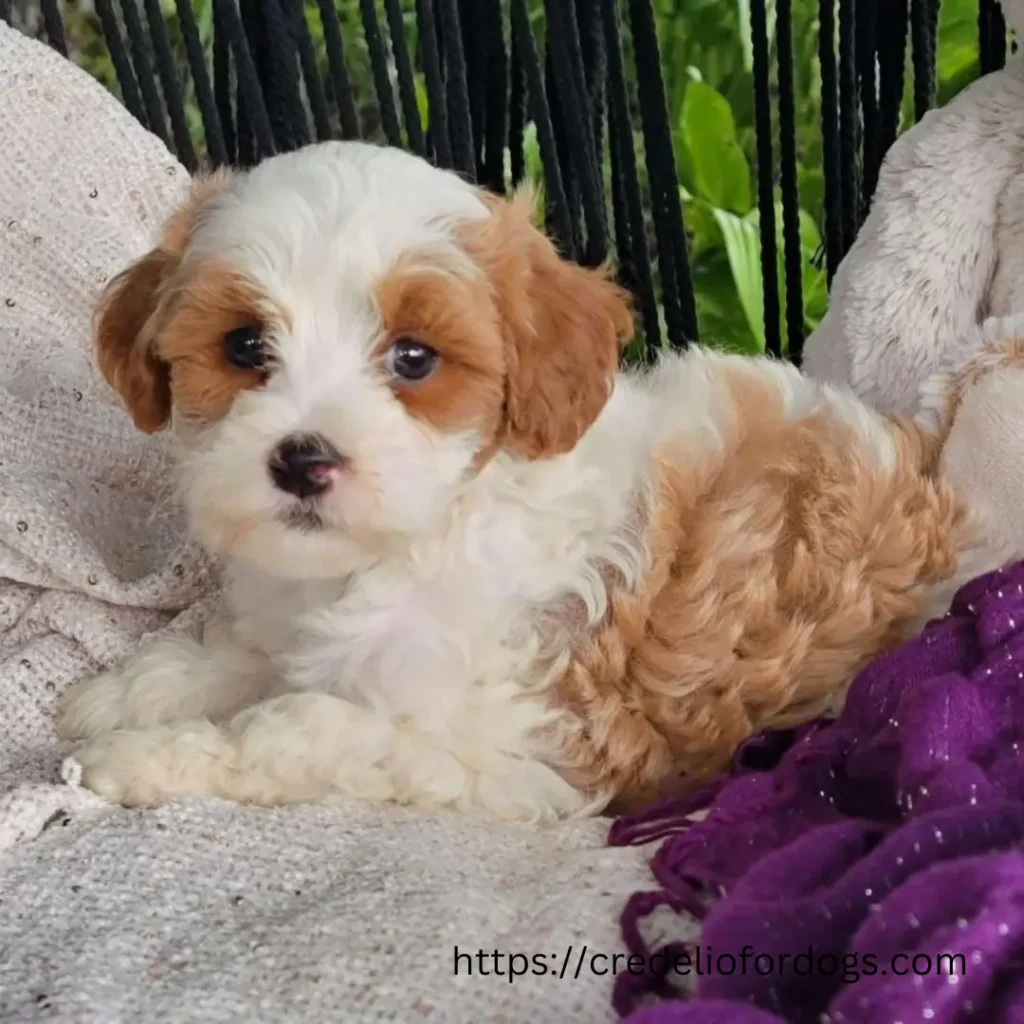
[[[198,179],[164,225],[160,245],[119,273],[99,297],[93,319],[96,361],[139,430],[160,430],[171,415],[170,374],[157,351],[154,326],[165,286],[207,202],[232,179],[223,171]]]

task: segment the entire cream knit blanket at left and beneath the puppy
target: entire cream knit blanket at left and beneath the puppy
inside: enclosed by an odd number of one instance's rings
[[[0,124],[0,1021],[612,1018],[610,977],[553,969],[570,945],[623,948],[616,910],[646,866],[607,849],[605,822],[128,813],[60,781],[60,692],[215,600],[165,442],[133,431],[86,348],[97,289],[147,248],[186,175],[87,76],[3,26]],[[455,977],[456,945],[551,970]]]

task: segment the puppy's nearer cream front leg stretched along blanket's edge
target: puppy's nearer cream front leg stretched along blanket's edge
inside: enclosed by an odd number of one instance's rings
[[[585,799],[539,760],[473,750],[325,693],[255,705],[225,726],[182,722],[95,737],[75,760],[86,786],[128,806],[221,797],[274,806],[349,797],[553,819]]]

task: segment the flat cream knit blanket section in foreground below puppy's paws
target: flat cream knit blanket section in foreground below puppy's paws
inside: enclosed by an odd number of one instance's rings
[[[646,869],[606,830],[219,802],[61,819],[0,859],[0,1021],[611,1021],[609,977],[555,970],[622,949]],[[456,946],[550,973],[456,976]]]

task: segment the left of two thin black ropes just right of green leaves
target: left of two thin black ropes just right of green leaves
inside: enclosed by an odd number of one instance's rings
[[[758,218],[761,226],[761,281],[764,294],[765,351],[782,354],[778,295],[778,249],[775,236],[775,158],[772,154],[771,70],[768,60],[768,15],[765,0],[751,2],[754,44],[754,125],[757,137]],[[823,100],[822,100],[823,101]]]

